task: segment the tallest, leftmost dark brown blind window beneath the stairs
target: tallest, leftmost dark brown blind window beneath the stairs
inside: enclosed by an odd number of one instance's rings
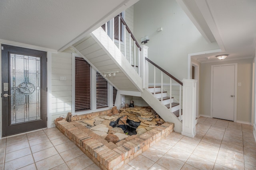
[[[79,57],[76,57],[75,61],[75,111],[90,110],[90,64]]]

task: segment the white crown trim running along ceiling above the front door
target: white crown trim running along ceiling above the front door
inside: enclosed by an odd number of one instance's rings
[[[38,47],[38,46],[35,46],[35,45],[29,45],[29,44],[24,44],[24,43],[17,43],[17,42],[14,42],[14,41],[8,41],[8,40],[4,40],[4,39],[0,39],[0,42],[2,44],[12,45],[12,46],[16,46],[16,47],[22,47],[22,48],[34,49],[34,50],[38,50],[38,51],[48,51],[48,52],[52,52],[52,53],[58,53],[58,51],[54,50],[54,49],[48,49],[48,48]]]

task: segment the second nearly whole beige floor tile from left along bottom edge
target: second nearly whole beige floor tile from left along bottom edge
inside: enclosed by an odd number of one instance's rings
[[[36,162],[37,170],[47,170],[59,166],[64,163],[64,160],[59,154]]]

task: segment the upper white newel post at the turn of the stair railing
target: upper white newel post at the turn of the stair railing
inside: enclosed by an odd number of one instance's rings
[[[142,78],[142,88],[148,88],[148,62],[145,58],[148,58],[148,47],[146,45],[141,45],[140,51],[140,77]]]

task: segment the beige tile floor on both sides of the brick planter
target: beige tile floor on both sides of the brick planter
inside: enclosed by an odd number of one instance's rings
[[[57,128],[0,140],[4,170],[99,170]],[[252,126],[200,117],[196,137],[171,133],[122,170],[256,170]]]

